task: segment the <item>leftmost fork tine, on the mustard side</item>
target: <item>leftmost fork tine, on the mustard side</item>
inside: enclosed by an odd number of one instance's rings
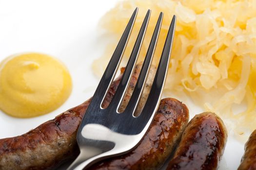
[[[120,64],[120,60],[122,58],[127,41],[129,39],[130,33],[132,31],[137,13],[138,13],[138,7],[133,12],[133,15],[130,18],[130,20],[126,26],[126,28],[118,42],[118,46],[117,46],[116,50],[114,51],[114,53],[108,63],[108,66],[100,79],[98,87],[93,95],[91,102],[98,103],[99,106],[101,106],[104,96],[106,95],[111,82],[115,78],[118,66]]]

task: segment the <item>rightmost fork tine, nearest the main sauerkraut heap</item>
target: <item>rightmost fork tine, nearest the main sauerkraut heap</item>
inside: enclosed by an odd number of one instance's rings
[[[161,98],[161,93],[163,90],[163,85],[165,82],[168,65],[169,65],[169,58],[170,58],[172,42],[174,37],[175,24],[176,24],[176,16],[174,16],[172,19],[172,22],[165,40],[161,59],[159,61],[158,70],[157,70],[152,88],[150,90],[148,99],[145,103],[145,106],[140,116],[137,118],[138,121],[141,122],[140,126],[142,127],[145,127],[149,119],[153,119],[153,116],[147,113],[153,113],[153,115],[155,114],[158,103]]]

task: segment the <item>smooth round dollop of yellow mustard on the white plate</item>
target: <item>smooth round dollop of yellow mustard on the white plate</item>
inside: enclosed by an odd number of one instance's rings
[[[49,55],[24,53],[0,63],[0,109],[11,116],[49,113],[67,100],[71,90],[68,69]]]

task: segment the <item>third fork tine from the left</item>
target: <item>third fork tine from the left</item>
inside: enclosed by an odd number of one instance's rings
[[[157,22],[155,31],[153,33],[153,36],[152,36],[152,39],[151,39],[151,42],[150,42],[145,60],[143,62],[143,66],[142,66],[141,71],[139,73],[138,81],[137,81],[136,86],[134,88],[134,92],[132,94],[132,97],[131,97],[125,111],[124,111],[125,113],[129,112],[129,114],[134,115],[134,113],[137,109],[137,106],[138,106],[138,103],[139,103],[144,85],[145,85],[146,80],[147,80],[148,73],[150,71],[150,66],[151,66],[151,62],[152,62],[152,59],[153,59],[153,55],[154,55],[154,52],[155,52],[155,49],[156,49],[156,46],[157,46],[158,35],[159,35],[159,32],[160,32],[160,28],[161,28],[162,18],[163,18],[163,13],[161,12],[159,17],[158,17],[158,22]]]

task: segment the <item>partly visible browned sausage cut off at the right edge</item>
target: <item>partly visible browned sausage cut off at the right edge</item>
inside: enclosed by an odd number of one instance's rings
[[[245,152],[237,170],[256,170],[256,130],[245,143]]]

